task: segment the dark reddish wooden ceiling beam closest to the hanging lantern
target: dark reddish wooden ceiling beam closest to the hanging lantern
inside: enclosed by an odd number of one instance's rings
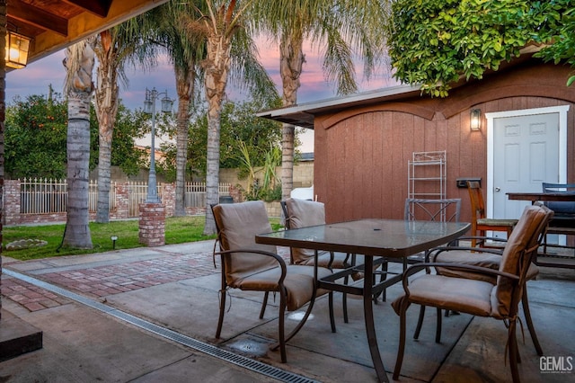
[[[34,25],[46,31],[54,31],[62,36],[68,35],[68,21],[65,18],[30,4],[11,0],[8,2],[7,15],[14,20]]]

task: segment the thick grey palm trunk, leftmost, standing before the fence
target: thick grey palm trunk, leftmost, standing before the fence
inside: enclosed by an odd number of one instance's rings
[[[92,248],[88,226],[88,180],[90,162],[90,97],[93,92],[94,38],[66,49],[68,99],[66,231],[63,245]]]

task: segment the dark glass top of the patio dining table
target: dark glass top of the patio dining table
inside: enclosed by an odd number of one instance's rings
[[[401,258],[443,245],[469,227],[464,222],[373,218],[261,234],[256,242]]]

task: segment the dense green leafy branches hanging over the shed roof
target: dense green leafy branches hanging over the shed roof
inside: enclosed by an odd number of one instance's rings
[[[394,76],[445,97],[462,76],[481,79],[486,70],[518,57],[527,43],[549,40],[544,37],[550,31],[558,36],[569,2],[397,0],[389,24]],[[572,49],[572,40],[567,44]]]

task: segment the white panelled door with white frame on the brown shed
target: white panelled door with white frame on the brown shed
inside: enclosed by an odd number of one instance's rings
[[[541,183],[567,182],[569,105],[486,113],[487,217],[518,218],[529,201],[508,192],[542,191]]]

